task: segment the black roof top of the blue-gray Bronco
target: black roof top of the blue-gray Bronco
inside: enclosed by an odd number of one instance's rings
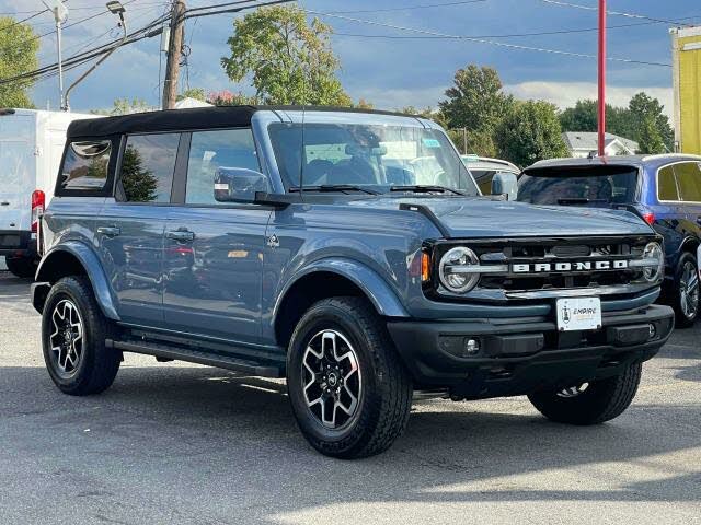
[[[251,125],[253,115],[261,110],[294,112],[302,109],[307,112],[370,113],[412,117],[412,115],[393,112],[333,106],[211,106],[78,119],[70,124],[67,135],[72,140],[123,133],[245,127]]]

